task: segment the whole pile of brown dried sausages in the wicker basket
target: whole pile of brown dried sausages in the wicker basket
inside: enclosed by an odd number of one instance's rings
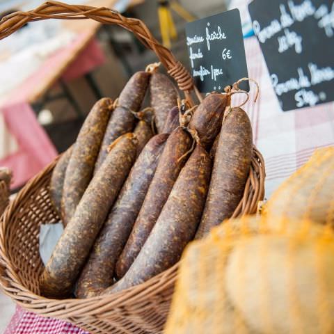
[[[253,154],[250,120],[229,94],[207,95],[190,120],[178,98],[166,75],[137,72],[116,101],[93,106],[51,176],[65,230],[40,277],[44,296],[88,298],[143,283],[232,216]]]

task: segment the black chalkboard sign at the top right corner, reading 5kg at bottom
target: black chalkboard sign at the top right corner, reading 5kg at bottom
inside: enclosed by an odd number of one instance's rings
[[[253,29],[283,111],[334,100],[334,1],[254,0]]]

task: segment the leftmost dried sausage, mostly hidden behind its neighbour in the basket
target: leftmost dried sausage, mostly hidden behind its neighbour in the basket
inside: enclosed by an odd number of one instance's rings
[[[52,171],[50,180],[50,198],[59,217],[61,217],[61,198],[63,197],[63,186],[65,172],[70,161],[73,146],[68,148],[57,161]]]

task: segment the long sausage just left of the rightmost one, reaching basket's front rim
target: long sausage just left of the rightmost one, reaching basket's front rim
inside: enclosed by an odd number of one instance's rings
[[[212,163],[209,154],[197,145],[182,168],[173,190],[141,252],[125,276],[106,289],[118,292],[145,282],[173,266],[186,244],[193,239],[205,205]]]

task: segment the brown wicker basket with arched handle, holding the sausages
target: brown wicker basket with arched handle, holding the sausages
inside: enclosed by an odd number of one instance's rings
[[[119,24],[152,49],[168,73],[177,81],[189,104],[193,87],[190,74],[168,49],[153,38],[138,19],[128,19],[108,8],[69,6],[50,1],[28,13],[15,13],[0,23],[0,38],[13,33],[29,21],[38,19],[91,18],[104,24]],[[264,196],[264,161],[253,150],[252,168],[244,197],[234,216],[254,213]],[[40,259],[40,224],[54,223],[58,216],[49,198],[49,180],[56,164],[52,162],[18,193],[0,221],[0,285],[3,291],[26,310],[56,317],[91,333],[159,333],[166,321],[178,264],[147,282],[109,296],[90,299],[46,299],[40,296],[39,277],[44,266]]]

